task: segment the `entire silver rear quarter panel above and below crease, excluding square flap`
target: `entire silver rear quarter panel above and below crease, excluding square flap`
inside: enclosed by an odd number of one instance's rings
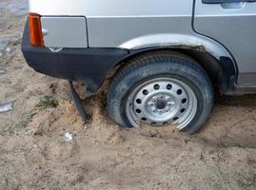
[[[202,47],[217,59],[231,58],[225,47],[193,31],[192,0],[113,0],[111,5],[106,0],[33,0],[30,11],[43,16],[85,16],[89,47]]]

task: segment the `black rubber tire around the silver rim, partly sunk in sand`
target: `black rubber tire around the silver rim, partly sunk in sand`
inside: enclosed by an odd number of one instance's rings
[[[171,77],[187,84],[195,93],[197,111],[183,132],[193,134],[206,122],[213,107],[213,87],[206,71],[187,55],[161,50],[148,52],[129,61],[116,74],[108,89],[107,109],[110,119],[121,126],[128,121],[128,95],[138,85],[155,77]]]

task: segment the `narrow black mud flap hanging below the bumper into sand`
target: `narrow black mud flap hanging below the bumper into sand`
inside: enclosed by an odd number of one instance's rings
[[[70,86],[70,91],[71,91],[72,99],[75,104],[76,110],[78,111],[79,115],[81,116],[83,122],[88,123],[89,122],[89,114],[86,112],[86,110],[83,106],[82,99],[75,91],[72,81],[69,81],[69,86]]]

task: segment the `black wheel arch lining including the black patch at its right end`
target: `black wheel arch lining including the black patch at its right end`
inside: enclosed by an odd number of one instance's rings
[[[228,91],[228,86],[232,85],[231,82],[228,81],[230,75],[235,74],[236,67],[234,63],[229,57],[223,56],[220,59],[216,59],[216,57],[202,47],[188,47],[188,46],[180,46],[180,47],[146,47],[141,49],[130,50],[128,56],[124,59],[118,61],[113,69],[108,72],[108,79],[111,78],[124,66],[127,66],[129,61],[132,59],[136,59],[136,57],[141,56],[143,54],[147,54],[150,52],[169,50],[183,53],[190,58],[194,59],[198,62],[207,72],[208,77],[211,80],[212,85],[216,92],[220,92],[222,94],[226,94]],[[227,64],[226,64],[227,63]],[[230,90],[229,90],[230,91]]]

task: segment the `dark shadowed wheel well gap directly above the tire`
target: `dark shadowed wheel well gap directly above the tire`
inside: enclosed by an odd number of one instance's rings
[[[207,72],[207,75],[214,86],[215,92],[222,91],[222,85],[224,82],[224,72],[220,65],[220,62],[215,59],[212,55],[207,53],[206,51],[198,50],[198,49],[188,49],[188,48],[151,48],[151,49],[142,49],[142,50],[135,50],[134,52],[130,52],[129,56],[126,57],[124,60],[118,62],[113,69],[108,73],[108,77],[106,80],[108,86],[109,81],[113,78],[113,76],[124,66],[128,66],[130,60],[135,59],[137,56],[141,56],[148,52],[156,52],[159,50],[170,50],[183,53],[190,58],[194,59],[198,62]],[[106,87],[104,87],[106,89]]]

